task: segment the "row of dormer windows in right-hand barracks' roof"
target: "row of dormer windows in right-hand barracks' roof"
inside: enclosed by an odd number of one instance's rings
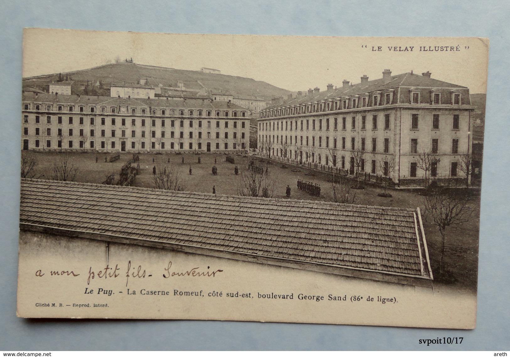
[[[410,101],[411,104],[419,104],[420,103],[420,92],[418,90],[412,90],[410,92]],[[441,93],[432,92],[430,98],[431,104],[441,104]],[[276,108],[276,109],[268,109],[267,111],[262,111],[259,115],[260,118],[270,118],[277,117],[283,115],[297,115],[297,114],[308,114],[308,113],[317,113],[331,110],[344,110],[344,109],[354,109],[354,108],[366,108],[372,106],[382,106],[382,105],[390,105],[393,104],[393,90],[390,89],[388,93],[384,93],[384,95],[375,94],[370,96],[368,93],[359,98],[359,95],[354,95],[351,98],[345,98],[337,101],[327,101],[325,103],[317,103],[317,104],[301,104],[298,106],[293,106],[291,108]],[[453,93],[451,95],[451,104],[452,105],[460,105],[461,104],[461,94]]]

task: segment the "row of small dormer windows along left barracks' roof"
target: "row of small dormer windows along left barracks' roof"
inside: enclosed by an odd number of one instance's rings
[[[34,105],[34,108],[35,110],[41,110],[41,107],[42,105],[40,104],[36,104]],[[23,109],[24,110],[30,110],[30,104],[24,104],[23,105]],[[64,106],[57,106],[57,111],[59,112],[62,112],[64,109]],[[66,106],[66,109],[68,112],[74,112],[74,106]],[[175,112],[179,113],[180,116],[184,116],[185,114],[187,114],[188,116],[193,116],[194,113],[195,113],[195,110],[193,109],[187,109],[187,110],[184,110],[184,109],[178,109],[178,110],[174,110],[174,109],[171,109],[171,110],[167,110],[167,109],[161,109],[161,110],[157,110],[157,109],[146,109],[146,108],[139,108],[140,110],[140,113],[142,115],[146,115],[149,111],[150,111],[150,114],[151,115],[158,115],[158,112],[160,115],[175,115]],[[46,105],[46,111],[53,111],[53,105]],[[80,106],[78,108],[78,111],[80,113],[85,113],[85,107],[83,106]],[[96,108],[95,107],[90,107],[89,108],[89,111],[90,113],[95,113],[96,112]],[[106,107],[100,107],[99,108],[99,112],[100,113],[107,113],[107,108]],[[117,107],[110,107],[110,113],[113,113],[115,114],[117,112]],[[196,110],[196,113],[198,116],[203,116],[203,110]],[[206,116],[212,116],[212,113],[213,111],[212,110],[206,110]],[[137,114],[138,113],[138,109],[137,108],[131,108],[131,114]],[[238,117],[239,113],[237,111],[228,111],[228,110],[225,110],[225,111],[220,111],[220,110],[216,110],[215,111],[215,114],[216,116],[224,116],[224,117],[228,117],[230,114],[229,113],[232,113],[232,116],[233,117]],[[244,118],[246,117],[246,112],[240,112],[240,117]]]

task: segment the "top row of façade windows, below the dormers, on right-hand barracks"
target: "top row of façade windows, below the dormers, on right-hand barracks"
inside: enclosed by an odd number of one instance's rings
[[[324,129],[329,131],[330,122],[329,118],[324,119]],[[411,114],[411,130],[419,129],[419,114]],[[290,121],[276,121],[272,122],[272,131],[284,131],[284,123],[285,123],[285,131],[292,131],[293,126],[294,130],[323,130],[323,119],[305,119],[305,120],[290,120]],[[293,125],[294,124],[294,125]],[[333,130],[338,130],[339,120],[338,118],[333,118]],[[347,130],[347,117],[341,118],[341,130]],[[432,130],[439,130],[440,118],[439,114],[432,114]],[[458,130],[460,125],[460,114],[453,114],[452,117],[452,130]],[[367,130],[367,116],[363,115],[361,117],[361,130]],[[378,122],[377,115],[372,115],[372,130],[377,130]],[[306,129],[304,129],[306,128]],[[350,118],[350,129],[356,129],[356,117],[353,116]],[[271,131],[271,122],[259,123],[260,131]],[[384,130],[390,130],[390,114],[384,115]]]

